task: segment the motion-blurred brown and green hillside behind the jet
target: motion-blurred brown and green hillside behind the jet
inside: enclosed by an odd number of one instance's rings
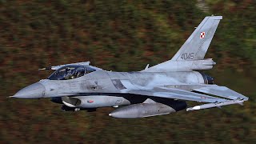
[[[110,118],[114,108],[62,112],[50,99],[6,98],[47,78],[38,68],[49,64],[132,71],[164,62],[211,14],[223,20],[206,74],[250,97],[244,106],[127,120]],[[0,0],[0,142],[256,143],[255,67],[255,0]]]

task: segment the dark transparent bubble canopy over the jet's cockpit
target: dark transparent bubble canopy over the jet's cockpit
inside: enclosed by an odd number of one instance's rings
[[[50,80],[68,80],[82,77],[85,74],[89,74],[95,71],[93,68],[89,66],[82,65],[68,65],[62,66],[58,70],[54,71],[53,74],[50,75],[48,79]]]

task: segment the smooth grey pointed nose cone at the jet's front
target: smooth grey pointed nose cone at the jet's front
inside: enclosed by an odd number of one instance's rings
[[[43,98],[46,92],[45,86],[42,86],[41,83],[34,83],[30,86],[26,86],[22,90],[19,90],[18,93],[12,96],[13,98]]]

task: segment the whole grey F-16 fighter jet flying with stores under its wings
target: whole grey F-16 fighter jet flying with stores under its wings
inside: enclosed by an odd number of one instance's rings
[[[202,110],[241,104],[247,97],[214,79],[202,70],[216,64],[204,58],[222,16],[202,20],[177,54],[169,61],[145,70],[114,72],[78,62],[50,66],[55,70],[47,79],[26,86],[14,98],[51,98],[64,111],[88,110],[112,106],[114,118],[144,118],[170,114],[179,110]],[[199,71],[198,71],[199,70]],[[186,101],[203,102],[187,108]]]

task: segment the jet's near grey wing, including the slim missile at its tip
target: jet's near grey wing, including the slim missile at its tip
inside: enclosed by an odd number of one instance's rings
[[[188,85],[186,85],[188,86]],[[186,87],[180,86],[180,87]],[[177,86],[179,87],[179,86]],[[232,104],[241,104],[247,101],[249,98],[245,97],[242,94],[235,92],[234,90],[230,90],[226,86],[217,86],[217,85],[191,85],[194,87],[189,90],[182,90],[178,88],[170,88],[166,86],[157,86],[151,90],[130,90],[130,94],[142,94],[152,97],[160,97],[160,98],[173,98],[173,99],[181,99],[186,101],[195,101],[195,102],[207,102],[206,104],[200,106],[194,106],[187,108],[187,111],[190,110],[202,110],[208,109],[212,107],[220,107]],[[187,88],[186,88],[187,89]],[[203,94],[198,94],[196,92],[200,92]],[[210,95],[217,95],[217,98]]]

